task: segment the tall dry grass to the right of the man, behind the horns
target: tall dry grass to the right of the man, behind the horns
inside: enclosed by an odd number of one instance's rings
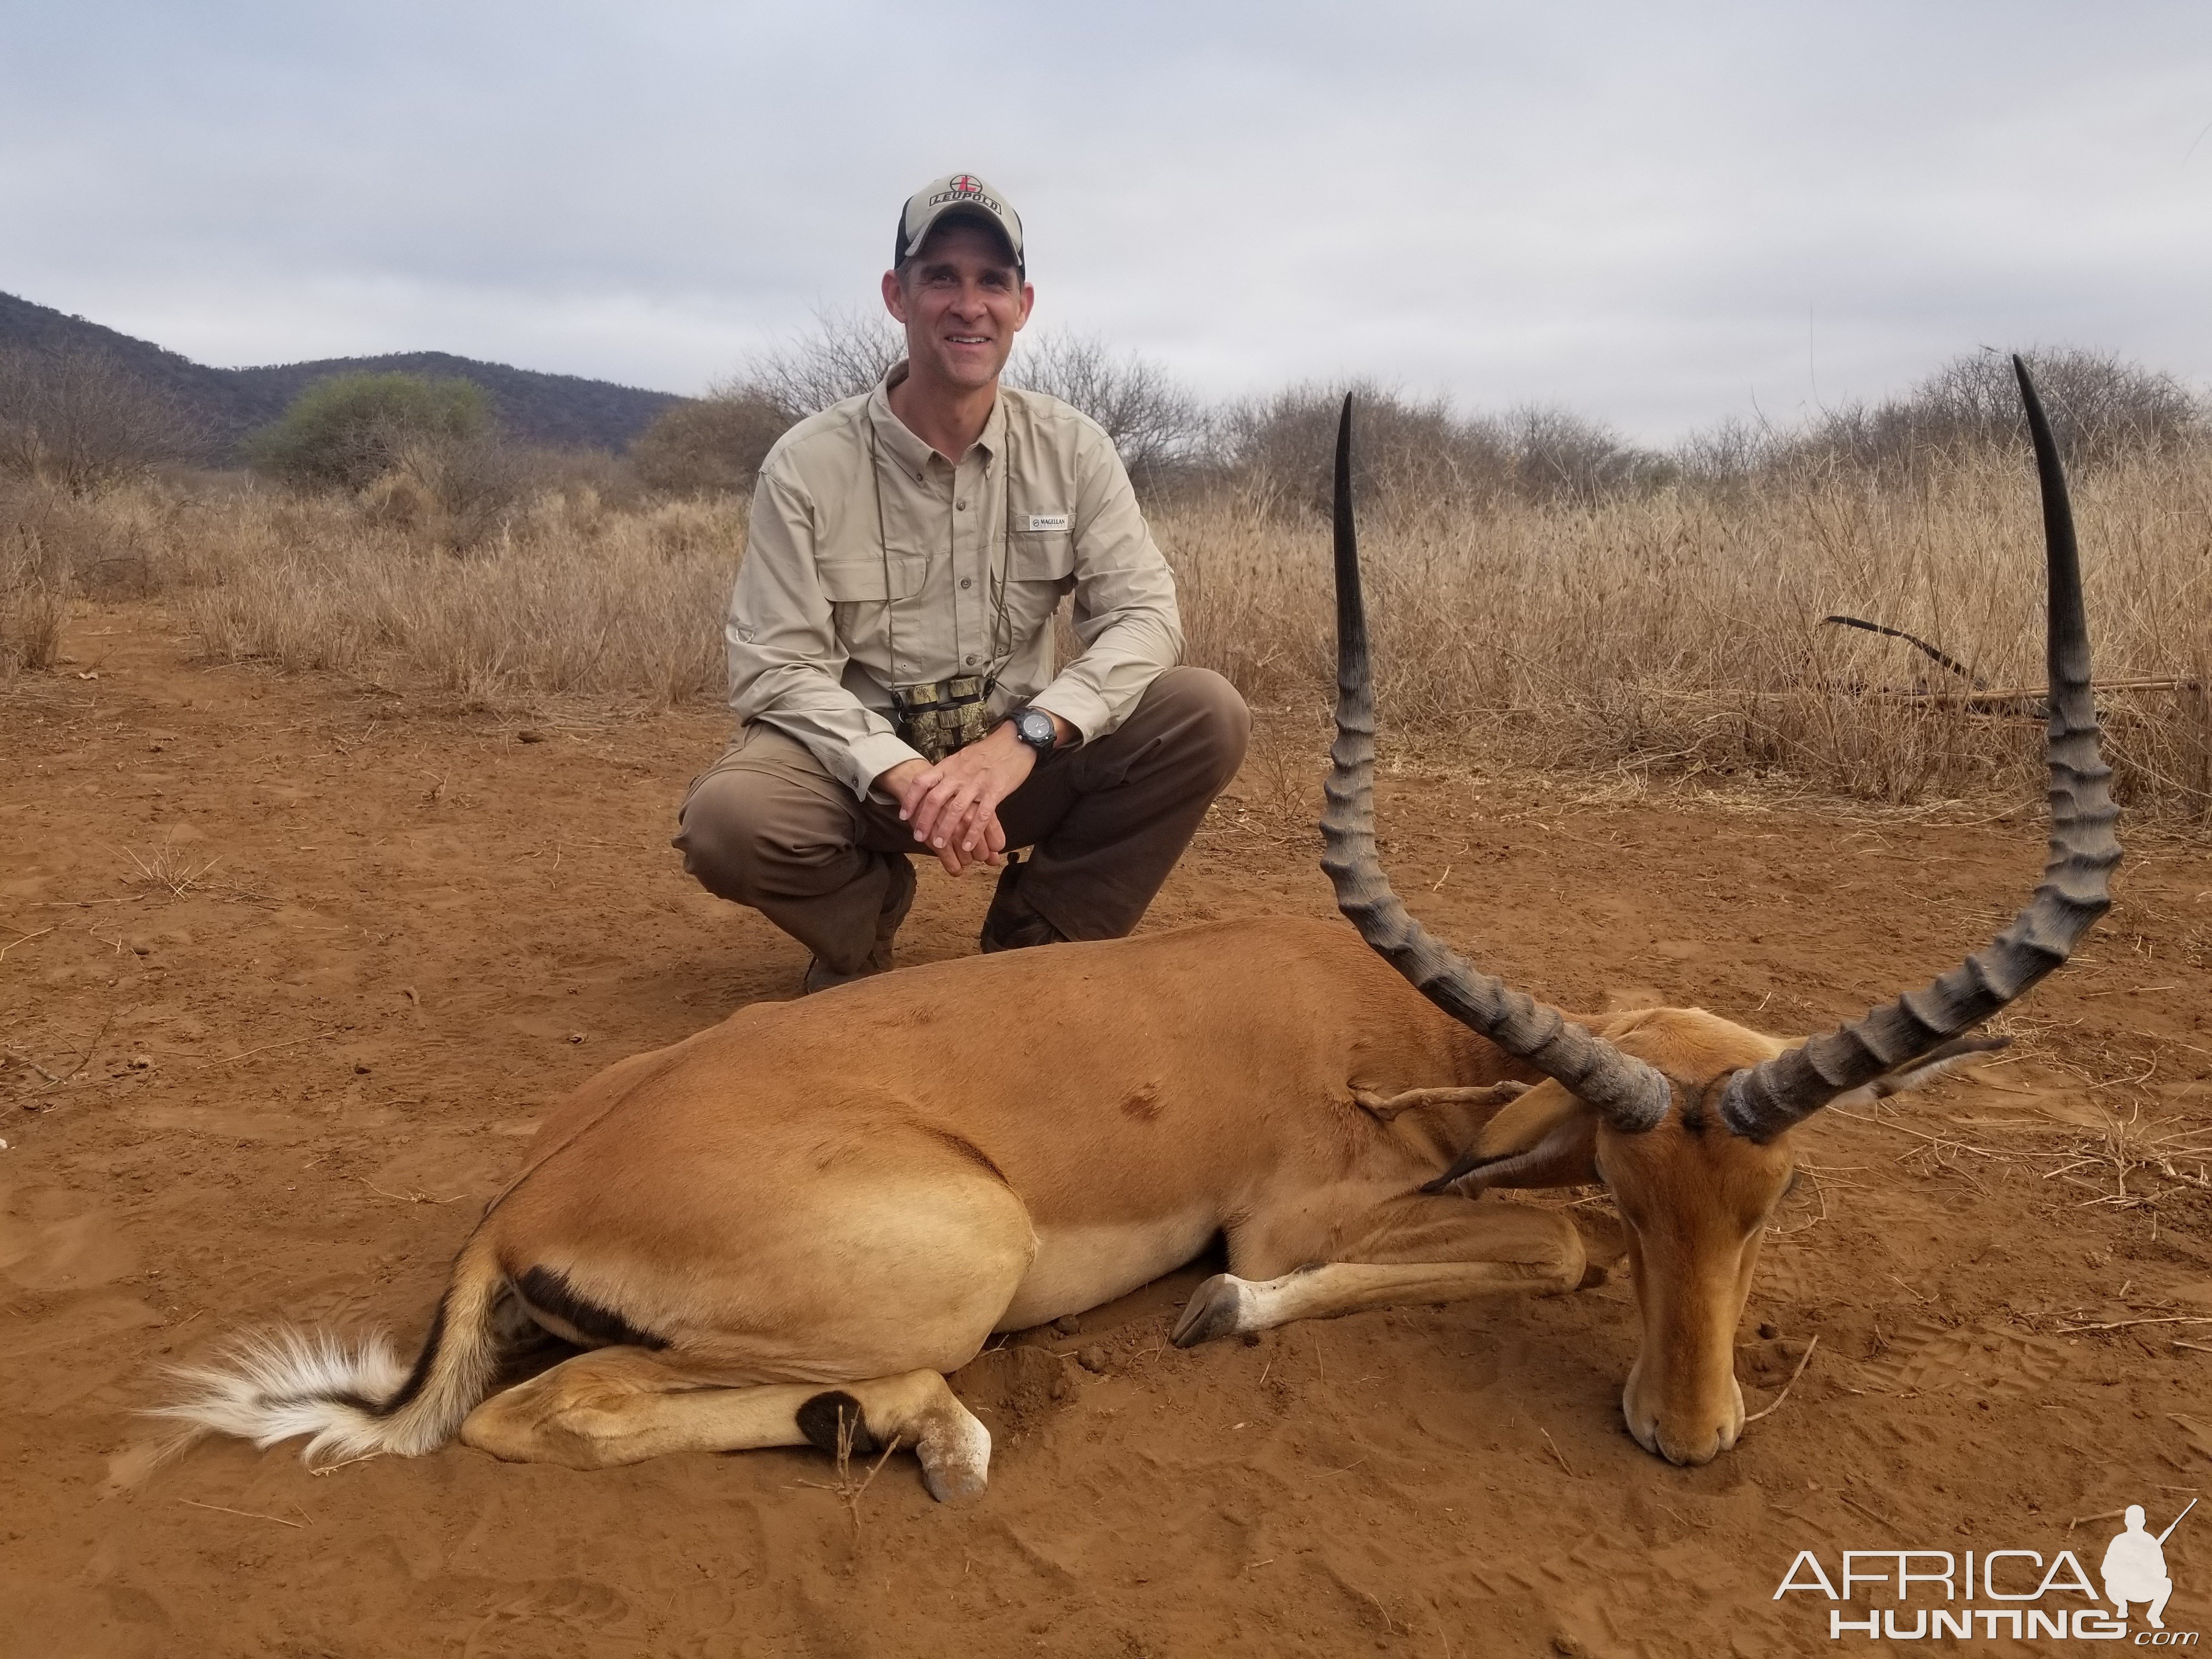
[[[2035,790],[2039,721],[1882,690],[1960,690],[1909,628],[1989,686],[2042,686],[2042,524],[2024,460],[1918,484],[1767,476],[1500,502],[1363,526],[1387,728],[1537,765],[1776,774],[1880,801]],[[2075,484],[2099,679],[2212,672],[2212,456]],[[1254,701],[1316,703],[1332,679],[1327,531],[1234,498],[1159,520],[1197,661]],[[2212,814],[2203,690],[2104,699],[2121,799]]]

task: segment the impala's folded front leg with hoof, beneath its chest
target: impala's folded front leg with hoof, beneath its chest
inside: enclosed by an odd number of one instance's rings
[[[1232,1241],[1230,1261],[1239,1267],[1252,1256],[1281,1261],[1281,1248],[1283,1241],[1272,1239],[1243,1252]],[[1579,1290],[1588,1265],[1582,1234],[1566,1217],[1458,1197],[1380,1203],[1329,1254],[1338,1259],[1292,1267],[1272,1279],[1214,1274],[1190,1296],[1170,1340],[1194,1347],[1294,1318],[1455,1303],[1498,1292],[1551,1296]]]

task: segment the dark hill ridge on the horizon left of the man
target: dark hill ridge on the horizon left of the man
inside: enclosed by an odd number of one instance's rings
[[[681,403],[668,392],[586,380],[577,374],[540,374],[507,363],[478,363],[449,352],[389,352],[385,356],[334,356],[316,363],[217,369],[15,294],[0,294],[0,345],[106,352],[199,416],[223,453],[234,451],[246,434],[281,416],[285,405],[307,385],[332,374],[405,372],[440,380],[473,380],[491,396],[491,407],[511,436],[564,449],[624,449],[655,418]]]

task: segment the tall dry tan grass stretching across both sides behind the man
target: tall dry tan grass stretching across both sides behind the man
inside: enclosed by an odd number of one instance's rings
[[[0,672],[51,659],[55,595],[75,580],[164,593],[215,659],[487,703],[719,695],[739,502],[615,511],[568,487],[460,553],[378,502],[137,484],[49,504],[38,533],[0,502],[0,535],[13,538],[0,557],[15,560],[0,573]],[[2077,478],[2075,507],[2099,679],[2201,686],[2212,456],[2099,467]],[[1190,659],[1256,706],[1325,710],[1325,524],[1219,487],[1164,507],[1155,529],[1181,575]],[[75,575],[55,564],[62,544]],[[1896,695],[1962,681],[1900,641],[1818,622],[1871,617],[1938,641],[1991,686],[2039,686],[2039,546],[2024,456],[1989,451],[1909,480],[1776,467],[1595,504],[1378,511],[1363,551],[1383,719],[1394,737],[1520,765],[2017,803],[2039,787],[2028,703]],[[2205,692],[2115,690],[2104,708],[2121,799],[2212,816]]]

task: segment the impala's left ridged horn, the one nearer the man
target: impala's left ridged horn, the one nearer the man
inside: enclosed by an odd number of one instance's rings
[[[1367,606],[1360,599],[1360,551],[1352,524],[1352,398],[1336,427],[1336,741],[1329,745],[1327,812],[1321,867],[1336,887],[1336,907],[1413,989],[1460,1024],[1559,1079],[1606,1121],[1644,1133],[1666,1117],[1666,1077],[1604,1037],[1571,1024],[1557,1009],[1511,991],[1449,947],[1429,938],[1376,854],[1376,699],[1367,657]]]

